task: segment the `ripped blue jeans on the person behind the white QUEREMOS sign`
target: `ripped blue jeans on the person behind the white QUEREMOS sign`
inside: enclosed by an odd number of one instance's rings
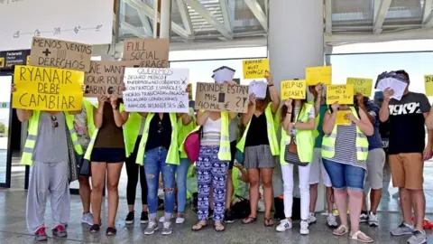
[[[174,183],[176,166],[175,164],[165,163],[167,149],[164,147],[153,148],[145,153],[144,172],[147,182],[147,204],[149,215],[152,220],[156,219],[158,211],[158,187],[160,182],[160,172],[164,184],[164,211],[172,214],[174,211]]]

